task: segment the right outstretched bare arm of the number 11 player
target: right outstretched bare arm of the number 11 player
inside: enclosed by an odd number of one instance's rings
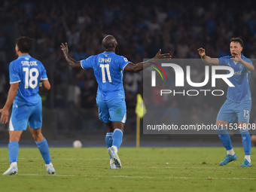
[[[169,53],[161,54],[161,50],[158,51],[157,55],[154,58],[149,59],[145,62],[139,62],[137,64],[133,64],[133,62],[129,62],[126,67],[123,69],[125,72],[140,72],[143,69],[146,69],[148,66],[152,66],[156,59],[171,59],[172,56]]]

